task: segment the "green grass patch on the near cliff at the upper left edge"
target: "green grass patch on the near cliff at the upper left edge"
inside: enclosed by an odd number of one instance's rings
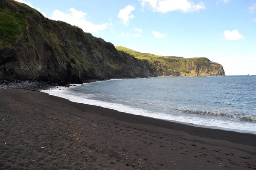
[[[0,46],[14,44],[26,32],[25,14],[0,4]]]

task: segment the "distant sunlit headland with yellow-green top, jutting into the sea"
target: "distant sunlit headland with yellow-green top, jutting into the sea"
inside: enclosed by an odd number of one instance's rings
[[[147,61],[157,68],[157,76],[216,76],[225,75],[222,65],[208,58],[183,58],[140,53],[129,48],[117,46],[117,50]]]

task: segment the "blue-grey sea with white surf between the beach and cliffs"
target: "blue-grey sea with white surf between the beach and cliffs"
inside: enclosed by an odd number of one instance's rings
[[[256,134],[256,76],[111,79],[42,92],[156,119]]]

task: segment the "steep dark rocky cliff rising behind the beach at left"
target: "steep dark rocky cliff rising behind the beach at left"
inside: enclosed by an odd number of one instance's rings
[[[164,74],[153,62],[14,0],[0,1],[0,33],[0,79],[84,82]]]

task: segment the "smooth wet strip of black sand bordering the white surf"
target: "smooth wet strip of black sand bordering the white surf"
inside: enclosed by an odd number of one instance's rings
[[[41,92],[41,93],[44,93],[44,92]],[[47,94],[47,93],[44,93],[44,94]],[[71,103],[73,103],[73,105],[78,105],[80,107],[83,107],[83,105],[84,105],[84,106],[90,106],[92,108],[95,108],[96,110],[100,109],[100,110],[104,110],[106,112],[113,112],[114,114],[111,115],[111,117],[122,120],[122,121],[129,121],[129,122],[131,121],[133,123],[143,123],[143,124],[146,122],[145,123],[146,125],[158,126],[158,127],[167,127],[167,128],[172,129],[172,130],[178,130],[178,131],[183,131],[184,130],[187,133],[190,133],[192,135],[198,135],[198,136],[201,136],[201,137],[206,136],[206,133],[202,133],[204,131],[209,131],[207,134],[211,134],[212,132],[215,131],[214,133],[217,133],[217,132],[225,133],[225,135],[224,135],[225,137],[223,137],[223,136],[220,137],[218,135],[207,136],[207,137],[212,138],[212,139],[227,139],[230,142],[235,142],[235,143],[238,143],[238,141],[236,141],[236,138],[234,138],[234,136],[239,135],[239,134],[245,134],[245,136],[249,135],[249,136],[252,137],[252,139],[255,138],[255,140],[256,140],[256,134],[254,134],[254,133],[241,133],[241,132],[237,132],[237,131],[234,131],[234,130],[223,130],[221,128],[220,129],[219,128],[209,128],[209,127],[204,126],[204,125],[195,125],[195,124],[191,125],[191,123],[186,123],[186,122],[169,121],[169,120],[165,120],[165,119],[157,119],[157,118],[143,116],[143,115],[125,113],[125,112],[117,111],[117,110],[111,109],[111,108],[104,108],[104,107],[98,106],[98,105],[89,105],[89,104],[84,104],[84,103],[79,103],[79,102],[72,102],[69,99],[65,99],[63,97],[58,97],[58,96],[53,96],[53,95],[50,95],[50,94],[47,94],[47,95],[52,96],[52,97],[56,97],[56,99],[59,99],[63,102],[71,102]],[[120,115],[118,115],[118,114],[120,114]],[[110,116],[110,115],[106,115],[106,114],[102,114],[102,115]],[[142,120],[145,119],[146,121],[145,122],[139,121],[139,119],[142,119]],[[148,123],[148,122],[150,122],[150,123]],[[197,131],[197,132],[195,133],[195,131]],[[229,134],[232,134],[231,135],[232,137],[229,136]],[[228,137],[226,137],[226,136],[228,136]],[[240,142],[241,142],[240,144],[246,144],[246,145],[251,145],[251,146],[256,147],[256,143],[253,140],[246,140],[246,141],[240,141]]]

